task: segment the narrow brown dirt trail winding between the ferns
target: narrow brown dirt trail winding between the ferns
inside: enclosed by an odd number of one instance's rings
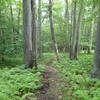
[[[63,100],[63,92],[60,87],[64,86],[64,79],[60,73],[51,66],[54,59],[45,65],[43,74],[43,86],[39,89],[37,100]]]

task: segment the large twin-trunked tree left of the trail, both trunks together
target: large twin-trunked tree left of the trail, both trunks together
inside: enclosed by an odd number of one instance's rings
[[[27,67],[37,66],[36,62],[36,7],[35,0],[23,0],[24,9],[24,60]]]

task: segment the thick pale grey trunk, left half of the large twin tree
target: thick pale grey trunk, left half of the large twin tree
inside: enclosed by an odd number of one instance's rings
[[[32,14],[31,14],[31,0],[23,0],[23,14],[24,14],[24,62],[26,67],[32,68]]]

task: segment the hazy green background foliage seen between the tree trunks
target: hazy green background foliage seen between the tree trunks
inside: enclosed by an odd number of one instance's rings
[[[81,41],[80,45],[83,49],[87,49],[95,45],[95,33],[97,25],[97,13],[98,6],[92,0],[87,0],[83,4],[82,11],[80,11],[82,1],[77,1],[77,20],[78,16],[82,17],[81,20]],[[67,8],[66,2],[62,0],[53,1],[53,21],[55,27],[55,33],[57,38],[58,49],[60,52],[68,51],[70,37],[68,34],[72,31],[72,17],[73,17],[73,7],[72,1],[69,1],[69,6]],[[41,5],[42,15],[42,34],[41,34],[41,47],[43,52],[51,52],[52,41],[49,26],[49,15],[48,15],[48,2],[46,0],[42,1]],[[67,10],[69,11],[69,18],[67,16]],[[37,4],[38,12],[38,4]],[[80,15],[81,13],[81,15]],[[37,17],[39,17],[37,15]],[[21,56],[23,54],[23,9],[21,0],[6,0],[0,1],[0,32],[1,32],[1,54],[8,56]],[[67,21],[69,19],[69,21]],[[68,23],[69,22],[69,23]],[[78,21],[77,21],[78,22]],[[68,25],[69,24],[69,25]],[[78,23],[77,23],[78,24]],[[40,35],[38,36],[40,37]],[[92,38],[91,38],[92,37]],[[6,49],[5,49],[6,48]],[[20,52],[20,53],[19,53]]]

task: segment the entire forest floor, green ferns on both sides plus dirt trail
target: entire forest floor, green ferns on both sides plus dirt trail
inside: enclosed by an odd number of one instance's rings
[[[24,69],[20,58],[6,57],[0,62],[0,100],[100,100],[100,80],[89,77],[93,55],[53,58],[45,53],[36,71]]]

